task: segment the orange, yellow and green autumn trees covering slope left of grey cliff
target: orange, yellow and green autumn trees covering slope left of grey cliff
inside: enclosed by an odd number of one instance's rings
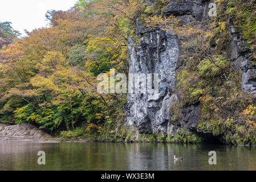
[[[98,93],[96,76],[111,68],[128,73],[129,25],[139,11],[138,1],[79,1],[68,11],[48,11],[50,27],[3,46],[0,122],[103,130],[125,96]]]

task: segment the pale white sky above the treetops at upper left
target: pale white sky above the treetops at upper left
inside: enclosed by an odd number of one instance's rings
[[[78,0],[0,0],[0,22],[11,22],[14,30],[25,36],[24,29],[32,31],[45,27],[47,10],[68,10]]]

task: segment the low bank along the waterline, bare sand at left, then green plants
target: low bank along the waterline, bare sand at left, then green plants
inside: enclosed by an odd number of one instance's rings
[[[115,135],[107,130],[101,133],[86,133],[83,129],[65,131],[65,135],[52,137],[38,127],[30,124],[6,125],[0,123],[0,142],[27,142],[27,143],[88,143],[88,142],[115,142],[115,143],[216,143],[201,138],[200,135],[180,133],[170,137],[168,135],[140,134],[135,130],[122,129]],[[218,142],[218,144],[230,144]],[[234,146],[250,146],[250,144],[233,143]],[[255,146],[251,144],[251,146]]]

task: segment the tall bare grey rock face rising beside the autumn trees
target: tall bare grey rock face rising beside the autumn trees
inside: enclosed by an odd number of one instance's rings
[[[159,75],[159,89],[154,92],[129,93],[128,104],[125,105],[125,114],[129,125],[134,124],[141,132],[165,131],[169,121],[169,104],[175,88],[175,71],[180,48],[178,40],[171,32],[161,30],[149,32],[136,45],[129,39],[129,73]],[[130,80],[131,81],[131,80]],[[147,78],[147,82],[151,79]],[[145,83],[135,81],[139,86]],[[133,82],[129,82],[129,88]],[[158,91],[158,92],[157,92]]]

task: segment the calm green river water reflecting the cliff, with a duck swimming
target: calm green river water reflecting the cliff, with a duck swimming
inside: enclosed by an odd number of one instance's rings
[[[38,151],[46,152],[44,166]],[[209,165],[209,151],[217,152],[217,165]],[[174,154],[185,159],[174,162]],[[0,142],[0,170],[256,170],[256,147]]]

